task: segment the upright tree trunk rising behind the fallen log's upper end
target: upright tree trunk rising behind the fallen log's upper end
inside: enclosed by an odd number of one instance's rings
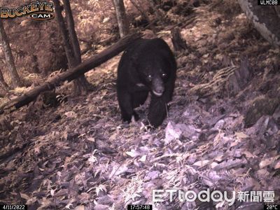
[[[123,3],[123,0],[113,0],[113,3],[116,10],[120,37],[123,37],[129,33],[127,15],[125,13],[125,4]]]

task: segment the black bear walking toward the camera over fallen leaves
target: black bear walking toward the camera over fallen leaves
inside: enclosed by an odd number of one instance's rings
[[[122,118],[139,119],[134,111],[151,92],[148,120],[153,127],[167,116],[176,80],[176,60],[162,38],[140,38],[123,53],[118,64],[117,94]]]

